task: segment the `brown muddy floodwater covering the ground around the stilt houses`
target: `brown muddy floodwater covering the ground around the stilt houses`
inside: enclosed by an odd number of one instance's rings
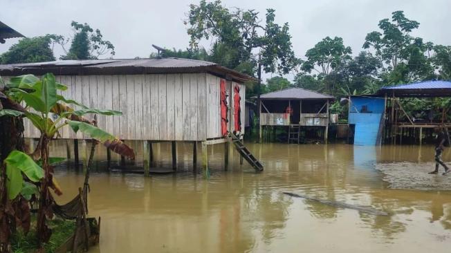
[[[142,144],[130,144],[142,158]],[[223,144],[217,144],[208,150],[209,180],[193,172],[189,143],[177,146],[178,173],[149,178],[109,173],[99,149],[89,215],[102,216],[101,236],[90,252],[451,252],[451,174],[426,175],[433,147],[246,145],[264,163],[262,173],[246,161],[239,165],[236,152],[224,171]],[[171,167],[170,151],[169,144],[154,144],[155,166]],[[51,152],[66,156],[65,142]],[[113,159],[111,166],[119,165]],[[451,164],[450,150],[443,160]],[[60,165],[55,174],[64,190],[57,201],[64,203],[82,186],[83,174],[73,165]]]

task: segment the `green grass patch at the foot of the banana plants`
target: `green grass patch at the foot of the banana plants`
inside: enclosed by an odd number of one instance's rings
[[[31,229],[28,234],[24,232],[17,231],[12,235],[11,247],[12,252],[15,253],[28,253],[34,252],[37,248],[37,238],[36,238],[36,223],[31,224]],[[44,244],[46,252],[53,253],[57,247],[61,246],[75,231],[75,221],[64,221],[60,219],[55,219],[48,221],[48,227],[52,229],[52,236],[48,243]]]

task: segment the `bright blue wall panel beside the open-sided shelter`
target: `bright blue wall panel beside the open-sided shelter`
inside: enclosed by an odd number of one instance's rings
[[[367,112],[362,112],[363,106],[367,106]],[[355,124],[355,145],[378,144],[380,124],[385,111],[385,100],[380,97],[351,97],[349,101],[349,124]]]

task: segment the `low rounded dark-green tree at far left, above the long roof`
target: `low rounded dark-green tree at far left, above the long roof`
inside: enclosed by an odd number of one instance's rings
[[[54,61],[53,43],[57,35],[24,38],[0,55],[1,64]]]

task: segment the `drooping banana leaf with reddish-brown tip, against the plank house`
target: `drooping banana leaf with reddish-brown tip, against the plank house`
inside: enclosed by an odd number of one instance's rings
[[[67,121],[69,126],[77,133],[77,131],[81,131],[82,133],[89,134],[91,138],[98,140],[105,147],[111,149],[113,152],[120,154],[121,156],[127,156],[130,159],[135,158],[135,153],[133,149],[128,147],[124,142],[116,138],[114,135],[103,131],[98,127],[94,127],[91,124],[86,124],[84,122],[77,122],[73,120]]]

